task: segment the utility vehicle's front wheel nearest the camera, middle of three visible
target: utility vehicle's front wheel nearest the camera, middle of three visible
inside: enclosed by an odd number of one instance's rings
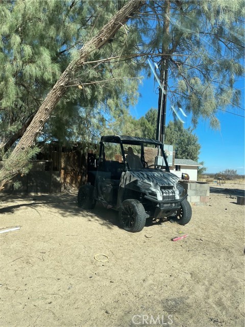
[[[142,203],[129,199],[122,202],[119,210],[119,221],[122,228],[127,231],[137,232],[143,229],[146,215]]]

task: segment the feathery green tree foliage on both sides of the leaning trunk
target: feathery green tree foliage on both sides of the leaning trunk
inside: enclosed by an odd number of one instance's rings
[[[55,0],[0,3],[0,147],[7,150],[23,135],[48,91],[82,45],[116,13],[117,4]],[[127,53],[139,38],[132,20],[89,60]],[[118,118],[135,104],[139,69],[133,62],[118,63],[118,59],[84,65],[66,86],[65,97],[39,138],[79,141],[96,137],[106,126],[104,118]]]

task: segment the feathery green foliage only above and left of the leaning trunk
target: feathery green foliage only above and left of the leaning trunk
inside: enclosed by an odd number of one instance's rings
[[[0,141],[6,149],[22,136],[69,62],[61,48],[77,39],[77,26],[69,24],[74,10],[68,2],[0,4]]]

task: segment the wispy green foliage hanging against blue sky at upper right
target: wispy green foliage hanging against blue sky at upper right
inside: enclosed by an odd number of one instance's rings
[[[149,6],[144,51],[167,60],[168,110],[180,107],[194,125],[201,118],[219,128],[218,110],[242,105],[236,81],[244,79],[244,1],[156,0]],[[160,56],[151,58],[160,64]]]

